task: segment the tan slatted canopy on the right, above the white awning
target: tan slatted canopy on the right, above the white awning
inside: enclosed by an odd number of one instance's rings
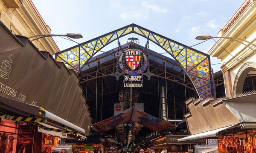
[[[256,99],[255,91],[218,99],[187,100],[189,115],[184,117],[189,132],[195,135],[241,123],[252,123],[244,128],[255,128],[256,101],[254,99]]]

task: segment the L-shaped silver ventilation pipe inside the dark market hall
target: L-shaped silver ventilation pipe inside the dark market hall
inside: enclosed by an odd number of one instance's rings
[[[165,86],[161,85],[161,92],[160,92],[160,102],[161,102],[161,117],[166,122],[181,122],[182,119],[168,119],[167,116],[167,100],[166,100],[166,88]]]

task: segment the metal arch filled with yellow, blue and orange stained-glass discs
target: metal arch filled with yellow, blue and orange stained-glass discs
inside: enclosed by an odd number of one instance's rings
[[[153,31],[145,29],[136,24],[130,24],[123,28],[83,42],[55,54],[56,61],[62,61],[67,68],[76,72],[81,71],[83,65],[90,60],[98,51],[127,34],[135,33],[151,40],[166,52],[168,52],[188,74],[196,91],[202,99],[210,98],[213,94],[212,72],[210,57],[201,51],[189,48],[179,42],[171,40]]]

